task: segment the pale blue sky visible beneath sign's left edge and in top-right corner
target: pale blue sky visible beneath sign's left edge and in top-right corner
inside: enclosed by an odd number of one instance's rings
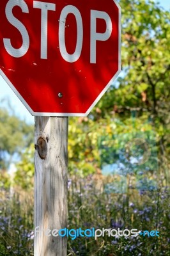
[[[164,7],[166,10],[170,9],[170,0],[154,0],[155,3],[159,2],[160,6]],[[29,111],[25,108],[25,106],[20,102],[20,100],[17,98],[15,93],[12,91],[10,86],[6,84],[6,82],[3,80],[3,77],[0,76],[0,105],[1,106],[7,106],[7,100],[4,100],[1,102],[3,99],[8,99],[12,108],[15,111],[15,114],[17,116],[20,116],[23,120],[26,120],[26,122],[29,122],[31,124],[34,123],[34,116],[31,116]]]

